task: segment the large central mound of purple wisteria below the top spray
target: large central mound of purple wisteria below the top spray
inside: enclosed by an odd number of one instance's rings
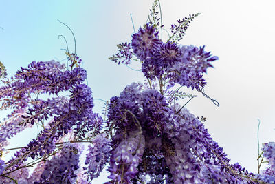
[[[154,89],[143,90],[142,85],[128,85],[120,96],[109,104],[109,123],[116,134],[112,139],[109,166],[111,183],[257,183],[256,178],[238,163],[230,160],[213,141],[203,123],[186,108],[168,103],[164,95]],[[143,154],[139,163],[126,178],[129,158],[135,156],[129,137],[139,132],[144,136]],[[130,162],[131,163],[131,162]],[[132,163],[131,163],[132,164]],[[124,165],[123,167],[121,165]],[[126,169],[122,172],[121,168]],[[160,169],[161,168],[161,169]],[[150,180],[146,179],[149,174]]]

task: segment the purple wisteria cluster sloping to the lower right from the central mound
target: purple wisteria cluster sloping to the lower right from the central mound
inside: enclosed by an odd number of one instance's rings
[[[188,110],[183,108],[174,116],[174,119],[175,122],[168,130],[168,136],[174,144],[175,153],[166,159],[168,165],[171,165],[170,172],[173,174],[174,181],[189,181],[190,183],[256,182],[254,174],[248,173],[238,163],[229,163],[230,160],[223,152],[223,148],[212,140],[203,123]]]

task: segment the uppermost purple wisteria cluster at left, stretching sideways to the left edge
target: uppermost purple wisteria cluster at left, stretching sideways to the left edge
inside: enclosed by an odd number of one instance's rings
[[[0,97],[47,92],[58,94],[86,79],[87,72],[83,68],[74,68],[72,71],[64,69],[65,65],[56,61],[32,61],[28,68],[21,67],[13,83],[1,88]]]

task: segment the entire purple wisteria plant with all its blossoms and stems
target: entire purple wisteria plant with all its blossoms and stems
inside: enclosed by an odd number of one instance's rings
[[[184,86],[210,98],[203,90],[203,74],[218,57],[205,46],[179,45],[199,14],[171,25],[164,41],[158,8],[155,0],[148,23],[109,58],[118,64],[140,62],[146,83],[131,83],[113,96],[107,119],[93,112],[91,88],[84,83],[87,72],[76,53],[66,52],[71,63],[67,67],[33,61],[11,79],[5,79],[0,63],[1,110],[12,109],[0,124],[1,158],[9,150],[5,147],[10,137],[34,124],[43,129],[10,161],[0,159],[1,183],[91,183],[105,166],[107,183],[274,183],[274,143],[265,144],[259,154],[270,167],[261,174],[249,173],[239,163],[230,163],[204,127],[206,119],[180,105],[179,99],[195,97],[184,93]],[[39,98],[41,94],[51,97]],[[81,166],[83,143],[89,145]]]

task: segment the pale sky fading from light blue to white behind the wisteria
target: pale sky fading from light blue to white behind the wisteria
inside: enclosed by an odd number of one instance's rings
[[[126,85],[144,81],[143,74],[117,65],[108,57],[116,45],[131,41],[135,30],[144,25],[153,1],[0,1],[0,61],[12,76],[31,61],[65,59],[65,41],[84,61],[88,82],[95,99],[107,101],[118,96]],[[217,107],[202,94],[186,106],[195,116],[207,118],[206,127],[232,163],[250,172],[257,171],[257,127],[261,121],[261,143],[275,138],[275,15],[274,1],[184,1],[161,0],[166,30],[177,19],[201,13],[189,26],[181,45],[206,45],[218,56],[205,79],[206,94],[219,101]],[[165,36],[165,35],[164,35]],[[62,61],[65,62],[65,61]],[[140,65],[132,65],[139,70]],[[102,101],[95,101],[100,112]],[[20,145],[30,141],[15,139]]]

